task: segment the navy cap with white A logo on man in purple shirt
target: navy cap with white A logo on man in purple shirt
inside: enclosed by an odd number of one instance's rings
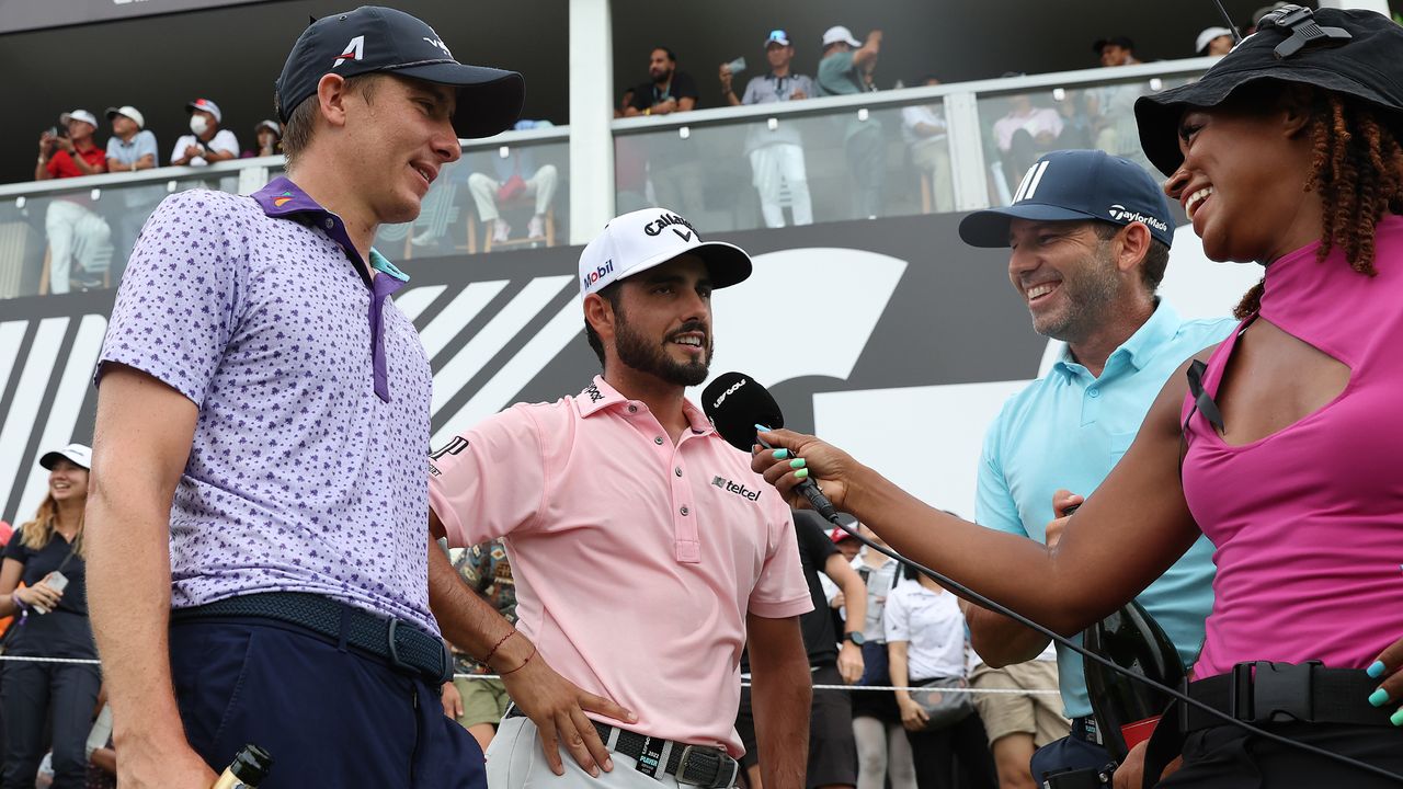
[[[512,128],[526,83],[516,72],[459,63],[434,28],[404,11],[361,6],[307,25],[274,83],[278,118],[288,122],[325,74],[390,73],[457,88],[453,129],[490,138]]]

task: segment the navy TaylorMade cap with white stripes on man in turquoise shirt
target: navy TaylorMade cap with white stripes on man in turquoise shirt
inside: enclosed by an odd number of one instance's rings
[[[1007,247],[1014,219],[1142,222],[1156,241],[1166,247],[1174,241],[1169,202],[1155,178],[1139,164],[1103,150],[1055,150],[1038,159],[1013,194],[1013,205],[965,216],[960,237],[971,247]]]

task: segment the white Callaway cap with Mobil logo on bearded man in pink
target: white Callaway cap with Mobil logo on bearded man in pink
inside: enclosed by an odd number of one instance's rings
[[[751,275],[751,256],[735,244],[703,241],[692,225],[666,208],[616,216],[579,254],[579,293],[589,295],[680,254],[694,254],[711,272],[711,288]]]

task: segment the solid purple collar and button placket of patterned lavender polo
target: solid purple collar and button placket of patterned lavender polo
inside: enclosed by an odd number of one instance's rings
[[[355,244],[351,243],[351,236],[347,233],[341,218],[321,208],[317,201],[311,199],[307,192],[302,191],[286,175],[274,178],[267,187],[254,192],[253,198],[262,208],[264,213],[274,219],[292,219],[321,230],[345,251],[347,258],[355,265],[361,281],[370,291],[370,312],[368,317],[370,321],[370,359],[375,369],[375,393],[380,400],[389,403],[390,376],[384,364],[384,299],[403,288],[410,279],[408,275],[372,248],[370,265],[382,274],[382,277],[372,278],[365,258],[361,257]]]

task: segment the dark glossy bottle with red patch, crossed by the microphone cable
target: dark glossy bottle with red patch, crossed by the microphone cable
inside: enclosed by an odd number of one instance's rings
[[[1134,599],[1082,633],[1082,646],[1132,674],[1177,688],[1184,664],[1174,642]],[[1101,743],[1117,762],[1136,744],[1149,740],[1172,701],[1162,691],[1136,682],[1093,660],[1082,658],[1092,712]]]

